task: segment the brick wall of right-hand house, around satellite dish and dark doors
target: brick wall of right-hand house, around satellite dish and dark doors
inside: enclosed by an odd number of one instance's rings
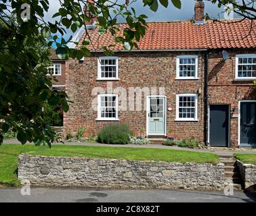
[[[255,99],[252,81],[237,81],[236,55],[256,50],[228,51],[231,59],[222,60],[221,51],[209,55],[209,104],[230,105],[230,144],[238,146],[238,101]],[[237,108],[235,113],[233,109]],[[235,115],[234,115],[235,114]]]

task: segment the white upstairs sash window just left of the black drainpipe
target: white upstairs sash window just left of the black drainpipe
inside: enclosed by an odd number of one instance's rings
[[[188,80],[198,78],[198,56],[180,55],[177,56],[176,79]]]

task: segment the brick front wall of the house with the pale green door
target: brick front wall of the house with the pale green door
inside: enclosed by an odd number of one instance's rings
[[[175,80],[176,56],[198,54],[198,80]],[[99,56],[101,54],[98,54]],[[113,88],[123,87],[165,87],[167,96],[167,132],[175,140],[194,137],[204,140],[204,55],[202,53],[138,52],[116,53],[119,57],[119,81],[112,82]],[[108,124],[129,124],[135,135],[146,135],[146,109],[142,111],[119,111],[119,121],[96,121],[97,111],[91,109],[94,87],[106,89],[106,81],[97,81],[97,56],[85,57],[84,62],[69,60],[66,62],[66,93],[73,104],[68,113],[64,113],[65,132],[76,133],[81,126],[86,128],[85,136],[95,136]],[[175,121],[176,94],[197,93],[198,122]],[[120,96],[119,96],[120,99]],[[142,97],[144,104],[145,97]],[[120,106],[121,104],[119,104]],[[129,107],[129,105],[127,105]],[[142,108],[144,108],[142,106]]]

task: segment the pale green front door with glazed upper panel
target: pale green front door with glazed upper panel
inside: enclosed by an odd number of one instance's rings
[[[165,135],[165,97],[149,97],[148,135]]]

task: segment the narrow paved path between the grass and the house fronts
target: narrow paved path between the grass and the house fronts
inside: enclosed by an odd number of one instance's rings
[[[20,144],[18,140],[4,140],[5,144]],[[27,142],[26,144],[30,144]],[[56,143],[62,144],[62,143]],[[108,147],[131,147],[131,148],[163,148],[163,149],[176,149],[176,150],[186,150],[186,151],[196,151],[203,153],[216,153],[217,155],[233,155],[234,153],[249,153],[256,154],[256,148],[221,148],[221,147],[211,147],[209,149],[198,149],[198,148],[182,148],[178,146],[164,146],[163,144],[143,144],[143,145],[135,145],[135,144],[102,144],[102,143],[91,143],[91,142],[67,142],[64,144],[67,145],[81,145],[81,146],[108,146]]]

